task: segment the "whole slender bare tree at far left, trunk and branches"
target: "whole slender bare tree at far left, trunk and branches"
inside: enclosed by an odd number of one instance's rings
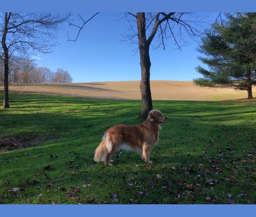
[[[36,52],[50,53],[56,45],[60,24],[71,14],[59,13],[12,13],[0,14],[1,60],[4,61],[4,102],[9,107],[9,59],[13,55],[28,58]]]

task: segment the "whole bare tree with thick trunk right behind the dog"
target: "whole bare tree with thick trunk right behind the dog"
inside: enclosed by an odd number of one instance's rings
[[[140,92],[142,109],[140,117],[145,119],[152,110],[152,97],[150,90],[150,45],[156,39],[154,48],[162,47],[165,50],[167,39],[171,38],[174,45],[181,50],[187,45],[184,35],[195,40],[200,35],[199,27],[202,21],[193,13],[124,13],[120,18],[127,19],[131,34],[123,36],[126,42],[137,44],[140,53],[141,82]],[[136,28],[137,27],[137,28]]]

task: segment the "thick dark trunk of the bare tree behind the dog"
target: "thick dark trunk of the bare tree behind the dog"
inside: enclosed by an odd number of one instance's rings
[[[140,67],[141,67],[141,81],[140,92],[142,100],[142,109],[140,119],[146,119],[150,110],[152,110],[152,97],[150,90],[150,57],[149,57],[149,45],[146,39],[145,28],[145,13],[137,13],[137,27],[138,27],[138,40],[140,51]]]

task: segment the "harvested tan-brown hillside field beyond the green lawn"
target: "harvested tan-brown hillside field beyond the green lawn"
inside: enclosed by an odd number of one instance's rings
[[[141,99],[140,81],[90,83],[10,84],[10,92],[32,92],[92,98]],[[232,88],[199,87],[193,81],[151,80],[153,100],[228,100],[247,98],[247,91]],[[0,84],[2,91],[3,84]],[[253,87],[253,96],[256,87]]]

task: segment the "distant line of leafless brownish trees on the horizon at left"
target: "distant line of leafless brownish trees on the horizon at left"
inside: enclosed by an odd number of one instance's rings
[[[47,67],[37,67],[31,59],[10,59],[8,83],[70,83],[69,72],[57,68],[55,72]],[[0,62],[0,83],[4,82],[4,63]]]

